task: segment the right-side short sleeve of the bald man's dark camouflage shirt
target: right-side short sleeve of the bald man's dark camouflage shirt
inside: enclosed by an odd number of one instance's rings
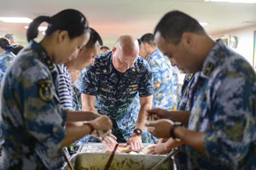
[[[138,92],[140,97],[147,97],[154,94],[153,76],[148,64],[143,72],[143,77],[139,84]]]

